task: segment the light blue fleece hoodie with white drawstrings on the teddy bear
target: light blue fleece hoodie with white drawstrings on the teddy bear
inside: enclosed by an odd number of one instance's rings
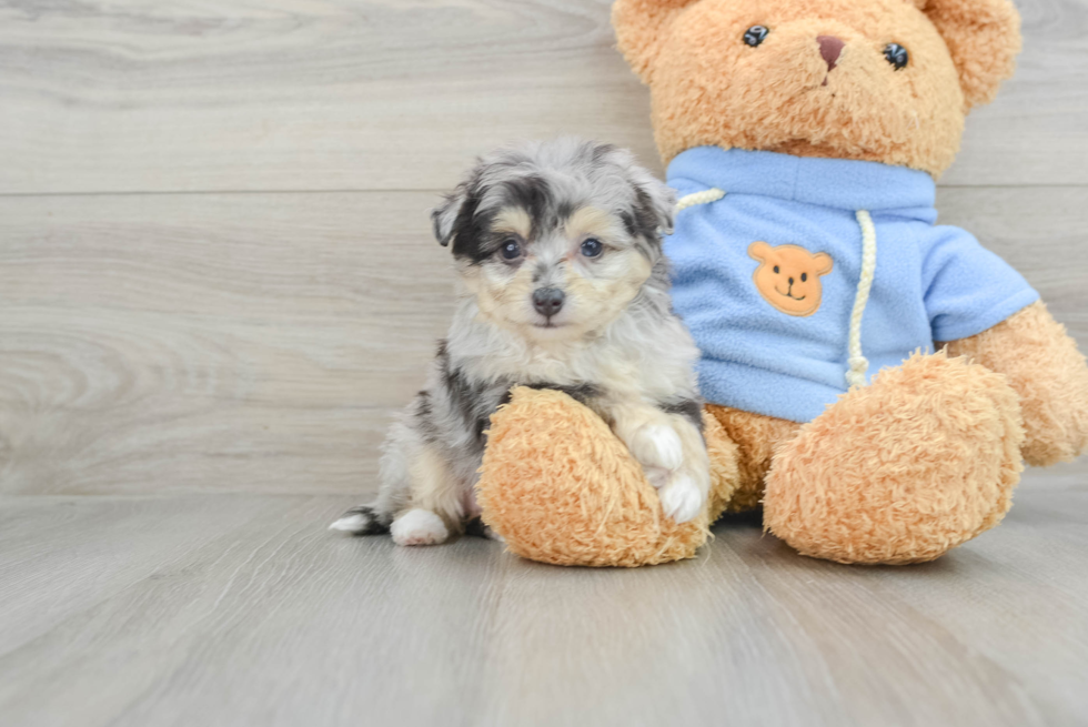
[[[925,172],[699,147],[672,161],[668,184],[681,196],[665,242],[674,305],[715,404],[807,422],[848,382],[1039,297],[969,233],[934,224]]]

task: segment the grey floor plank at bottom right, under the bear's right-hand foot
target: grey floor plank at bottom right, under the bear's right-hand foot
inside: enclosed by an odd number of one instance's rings
[[[1088,619],[1082,608],[1088,584],[1067,574],[1084,567],[1086,507],[1082,484],[1062,492],[1025,488],[998,528],[930,564],[840,567],[786,558],[786,546],[765,538],[753,569],[776,592],[800,592],[790,594],[798,617],[810,626],[822,650],[843,660],[832,678],[836,684],[858,681],[858,691],[842,693],[858,707],[857,724],[894,723],[898,713],[910,714],[913,724],[991,719],[1076,725],[1088,709]],[[798,588],[798,579],[806,586]],[[828,599],[826,607],[814,603],[822,598]],[[872,612],[859,608],[864,600]],[[895,694],[878,705],[866,704],[862,689],[874,678],[887,678],[887,673],[874,676],[886,659],[856,653],[829,625],[830,614],[838,614],[843,629],[856,638],[873,640],[866,652],[893,647],[919,674],[895,679]],[[873,620],[865,625],[869,615]],[[1061,634],[1064,646],[1047,653],[1041,645],[1051,634]],[[928,697],[921,691],[911,696],[930,680]],[[980,685],[998,687],[1000,694],[983,697]],[[968,705],[978,698],[991,710],[989,717],[965,711],[974,713],[976,707]]]

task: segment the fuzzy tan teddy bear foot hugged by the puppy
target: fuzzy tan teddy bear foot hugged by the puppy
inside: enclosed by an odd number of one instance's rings
[[[544,563],[637,566],[689,558],[706,542],[709,508],[723,506],[735,486],[735,450],[721,441],[717,422],[708,426],[711,501],[677,525],[601,417],[561,392],[515,388],[491,418],[476,488],[483,518],[511,551]]]

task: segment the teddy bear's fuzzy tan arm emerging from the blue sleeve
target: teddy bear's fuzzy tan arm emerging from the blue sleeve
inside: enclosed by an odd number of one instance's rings
[[[1088,446],[1088,365],[1041,302],[945,347],[1008,376],[1020,396],[1028,464],[1069,462]]]

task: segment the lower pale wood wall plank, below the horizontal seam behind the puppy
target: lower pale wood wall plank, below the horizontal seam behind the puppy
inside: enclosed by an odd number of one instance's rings
[[[373,487],[449,322],[435,199],[0,199],[0,492]],[[1080,190],[943,190],[940,208],[1088,347]]]

